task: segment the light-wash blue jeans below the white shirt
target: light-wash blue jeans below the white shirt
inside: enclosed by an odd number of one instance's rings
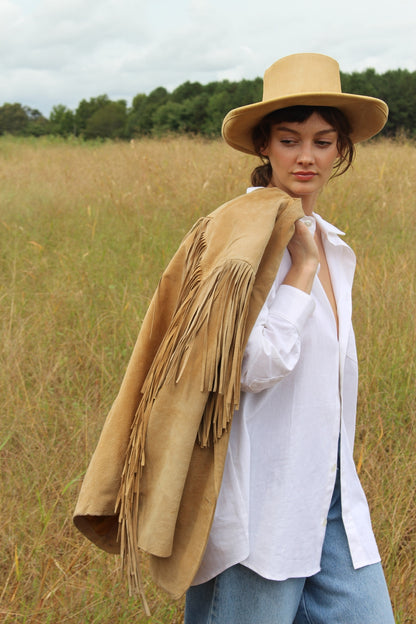
[[[394,624],[381,564],[358,570],[352,565],[341,517],[339,476],[320,572],[270,581],[243,565],[232,566],[188,590],[185,624]]]

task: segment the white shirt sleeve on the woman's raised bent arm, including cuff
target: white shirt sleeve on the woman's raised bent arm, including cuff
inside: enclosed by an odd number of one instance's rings
[[[279,286],[272,301],[266,300],[244,352],[243,391],[261,392],[295,368],[301,333],[314,308],[311,295],[287,284]]]

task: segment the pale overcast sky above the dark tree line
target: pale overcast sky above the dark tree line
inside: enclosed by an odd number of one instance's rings
[[[414,71],[415,33],[415,0],[0,0],[0,105],[130,104],[186,80],[263,76],[295,52]]]

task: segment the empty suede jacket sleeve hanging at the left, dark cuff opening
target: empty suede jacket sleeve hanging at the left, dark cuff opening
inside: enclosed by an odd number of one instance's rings
[[[120,550],[115,507],[130,429],[141,399],[142,385],[177,307],[190,239],[192,234],[184,239],[153,295],[79,493],[74,524],[107,552],[118,553]]]

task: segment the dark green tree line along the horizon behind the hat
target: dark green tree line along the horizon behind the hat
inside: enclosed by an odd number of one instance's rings
[[[385,100],[390,109],[383,134],[416,136],[416,72],[406,69],[378,74],[374,69],[341,73],[342,90]],[[202,85],[187,81],[169,93],[164,87],[137,94],[131,106],[107,95],[83,99],[76,110],[57,104],[45,117],[18,103],[0,106],[0,134],[58,135],[85,139],[132,139],[180,133],[217,137],[225,114],[232,108],[258,102],[263,81],[222,80]]]

